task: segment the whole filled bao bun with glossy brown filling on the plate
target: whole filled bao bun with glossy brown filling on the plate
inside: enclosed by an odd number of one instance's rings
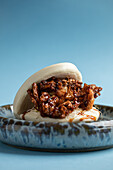
[[[100,112],[94,100],[101,87],[82,83],[82,75],[72,63],[48,66],[28,78],[14,99],[18,119],[37,122],[97,121]]]

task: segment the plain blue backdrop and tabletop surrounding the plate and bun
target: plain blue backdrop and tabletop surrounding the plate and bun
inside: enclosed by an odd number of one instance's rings
[[[112,0],[0,0],[0,105],[45,66],[74,63],[83,82],[103,87],[96,103],[113,105]],[[0,143],[0,169],[113,169],[113,149],[52,154]],[[108,168],[109,167],[109,168]]]

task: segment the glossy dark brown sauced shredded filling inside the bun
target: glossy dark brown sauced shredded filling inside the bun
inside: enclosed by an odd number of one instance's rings
[[[43,118],[64,119],[74,110],[93,109],[94,100],[100,96],[101,90],[102,88],[95,84],[83,85],[75,79],[51,77],[40,83],[34,82],[27,92],[34,109],[40,112]]]

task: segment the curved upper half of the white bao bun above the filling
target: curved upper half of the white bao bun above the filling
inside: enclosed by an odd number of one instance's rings
[[[77,67],[72,63],[59,63],[43,68],[29,77],[18,90],[13,107],[16,118],[20,118],[20,114],[33,107],[27,90],[31,88],[34,82],[41,82],[50,77],[65,78],[70,77],[82,82],[82,75]]]

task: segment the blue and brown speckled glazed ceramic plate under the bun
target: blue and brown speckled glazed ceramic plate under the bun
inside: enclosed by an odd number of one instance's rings
[[[15,119],[13,105],[0,107],[0,140],[41,151],[90,151],[113,147],[113,107],[95,105],[97,122],[38,123]]]

